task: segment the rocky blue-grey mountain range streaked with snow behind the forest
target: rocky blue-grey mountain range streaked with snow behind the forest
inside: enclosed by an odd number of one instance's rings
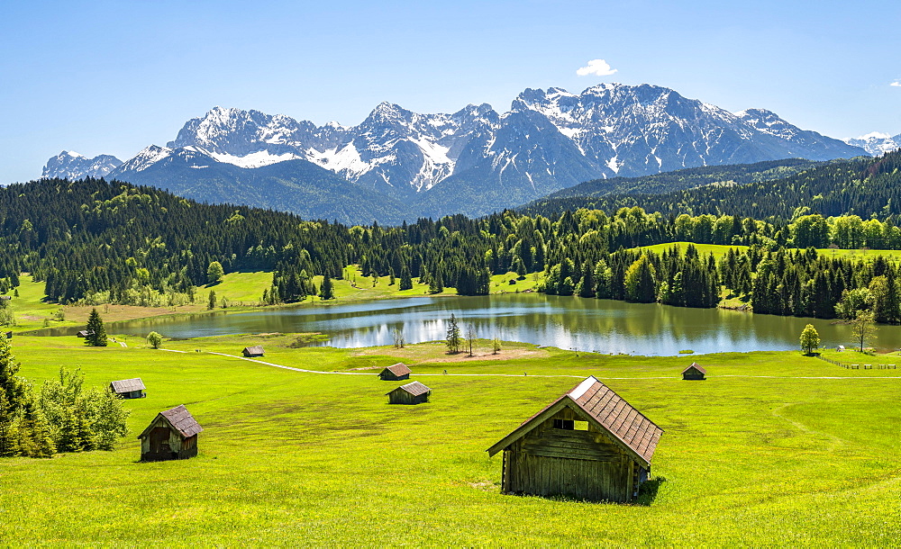
[[[145,148],[106,174],[90,175],[171,188],[167,180],[149,176],[171,173],[148,170],[173,155],[194,159],[169,162],[170,170],[182,166],[198,176],[216,164],[253,170],[301,160],[409,203],[416,215],[441,215],[513,207],[616,175],[862,154],[866,151],[858,143],[800,130],[773,112],[728,112],[655,85],[602,84],[581,94],[557,87],[526,89],[503,113],[488,104],[420,114],[380,103],[351,127],[215,107],[187,121],[166,147]],[[79,175],[60,171],[59,162],[51,166],[53,160],[44,176]]]

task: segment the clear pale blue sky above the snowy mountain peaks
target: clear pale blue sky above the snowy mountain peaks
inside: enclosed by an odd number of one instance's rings
[[[7,2],[0,183],[60,150],[126,159],[215,105],[359,123],[526,87],[649,83],[836,138],[901,133],[901,4]],[[578,76],[591,59],[616,72]]]

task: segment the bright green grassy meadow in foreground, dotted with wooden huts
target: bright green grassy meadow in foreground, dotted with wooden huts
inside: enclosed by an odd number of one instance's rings
[[[79,347],[15,336],[35,383],[141,377],[112,452],[0,461],[2,545],[897,545],[901,371],[796,352],[600,356],[505,344],[499,357],[291,348],[296,336]],[[260,343],[262,361],[239,355]],[[132,344],[132,342],[130,342]],[[197,352],[197,350],[200,352]],[[176,352],[183,351],[183,352]],[[846,364],[894,364],[895,356]],[[403,360],[432,401],[390,406],[378,368]],[[692,360],[704,382],[683,382]],[[891,361],[891,362],[890,362]],[[898,360],[901,362],[901,360]],[[369,368],[369,369],[365,369]],[[444,371],[447,374],[444,374]],[[344,373],[344,374],[338,374]],[[596,375],[665,434],[633,505],[508,496],[488,446]],[[185,404],[199,455],[141,464],[136,436]]]

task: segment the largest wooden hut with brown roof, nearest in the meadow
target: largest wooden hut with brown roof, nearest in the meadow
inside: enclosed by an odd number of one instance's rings
[[[594,376],[488,448],[503,450],[501,490],[577,500],[633,500],[663,429]]]

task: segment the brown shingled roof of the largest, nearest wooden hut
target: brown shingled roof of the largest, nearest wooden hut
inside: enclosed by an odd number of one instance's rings
[[[543,410],[523,421],[519,428],[504,437],[495,446],[488,449],[489,455],[495,455],[498,451],[509,446],[520,437],[524,437],[532,428],[537,427],[540,421],[535,421],[553,409],[557,410],[566,405],[575,405],[596,423],[596,427],[602,428],[615,440],[631,450],[642,461],[650,464],[651,456],[657,449],[660,435],[663,429],[658,427],[651,419],[647,419],[641,412],[635,410],[623,397],[616,394],[604,383],[597,381],[594,376],[588,377],[579,383],[571,391],[551,402]],[[542,419],[543,420],[543,419]]]

